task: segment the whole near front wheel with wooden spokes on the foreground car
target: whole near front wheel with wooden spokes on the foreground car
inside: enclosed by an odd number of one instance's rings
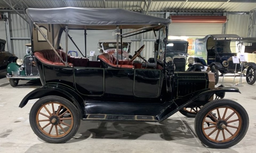
[[[237,102],[217,99],[203,106],[195,117],[195,132],[211,148],[229,148],[240,142],[249,126],[246,110]]]

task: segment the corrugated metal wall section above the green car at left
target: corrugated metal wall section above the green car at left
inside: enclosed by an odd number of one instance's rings
[[[24,14],[21,13],[23,16]],[[30,38],[29,25],[25,20],[23,20],[15,12],[9,12],[9,22],[10,22],[10,35],[11,38]],[[14,54],[18,58],[24,58],[26,55],[26,43],[29,43],[30,40],[13,40],[11,39],[11,47],[14,51]]]

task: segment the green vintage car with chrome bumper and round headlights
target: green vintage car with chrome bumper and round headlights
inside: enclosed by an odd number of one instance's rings
[[[39,79],[38,70],[35,63],[35,57],[31,53],[31,43],[26,44],[27,54],[23,59],[17,59],[16,62],[7,66],[7,75],[10,85],[15,87],[19,80],[36,80]]]

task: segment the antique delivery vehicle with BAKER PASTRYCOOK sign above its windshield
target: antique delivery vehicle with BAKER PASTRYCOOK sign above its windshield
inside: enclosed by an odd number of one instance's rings
[[[210,67],[215,76],[215,84],[218,83],[219,72],[221,73],[220,76],[227,73],[237,74],[239,72],[242,73],[247,67],[255,71],[256,64],[253,62],[243,62],[243,68],[241,63],[233,63],[232,56],[237,56],[237,53],[239,53],[239,44],[242,39],[236,34],[212,34],[196,39],[195,61]],[[250,71],[250,69],[247,69],[247,71]],[[240,74],[237,75],[240,76]],[[254,73],[253,77],[255,75]],[[249,81],[248,77],[250,75],[245,75],[245,77],[248,84],[255,83],[255,81]]]

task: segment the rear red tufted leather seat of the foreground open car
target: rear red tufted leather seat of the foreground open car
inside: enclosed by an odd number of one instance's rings
[[[61,56],[62,60],[66,62],[66,53],[59,49],[57,49],[56,51],[58,52],[59,56]],[[53,50],[35,51],[34,56],[45,64],[65,66],[65,64],[61,62],[61,60]],[[67,64],[69,66],[75,67],[87,67],[88,59],[67,55]]]

